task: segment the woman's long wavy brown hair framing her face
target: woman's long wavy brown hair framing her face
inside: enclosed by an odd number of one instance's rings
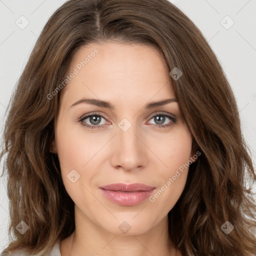
[[[201,155],[190,164],[185,188],[168,213],[175,246],[189,256],[255,256],[256,205],[245,181],[253,184],[256,175],[234,95],[201,32],[167,0],[69,0],[45,24],[4,126],[0,158],[7,154],[3,173],[12,241],[3,255],[17,248],[43,255],[74,231],[74,203],[58,157],[49,151],[61,90],[47,95],[65,79],[78,47],[106,40],[152,45],[169,71],[182,71],[170,79]],[[29,227],[23,234],[15,228],[21,220]],[[229,233],[221,229],[226,221],[234,227]]]

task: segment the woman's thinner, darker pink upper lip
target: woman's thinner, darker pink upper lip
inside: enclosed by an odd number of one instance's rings
[[[105,186],[100,186],[100,188],[111,191],[148,191],[155,187],[148,186],[142,183],[132,183],[132,184],[124,184],[124,183],[114,183]]]

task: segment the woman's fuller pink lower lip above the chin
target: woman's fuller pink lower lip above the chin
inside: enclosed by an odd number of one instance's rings
[[[146,198],[150,196],[152,191],[154,190],[147,190],[147,191],[132,191],[132,192],[122,192],[122,191],[112,191],[112,190],[105,190],[100,188],[103,195],[109,199],[110,201],[125,206],[132,206],[141,203]]]

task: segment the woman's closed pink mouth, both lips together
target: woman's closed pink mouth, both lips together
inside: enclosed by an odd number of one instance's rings
[[[115,183],[99,187],[99,189],[111,202],[124,206],[132,206],[148,198],[155,187],[142,183]]]

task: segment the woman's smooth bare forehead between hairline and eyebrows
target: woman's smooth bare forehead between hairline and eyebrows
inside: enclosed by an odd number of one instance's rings
[[[63,98],[81,96],[126,101],[175,97],[163,57],[152,46],[106,41],[81,46],[74,54]],[[155,98],[156,99],[156,98]]]

